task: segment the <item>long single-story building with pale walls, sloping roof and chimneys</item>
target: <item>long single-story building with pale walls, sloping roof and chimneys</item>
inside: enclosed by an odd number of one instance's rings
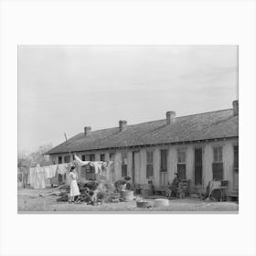
[[[165,119],[91,131],[68,140],[69,150],[82,160],[114,161],[108,178],[130,176],[134,185],[165,187],[178,173],[190,180],[190,187],[205,189],[210,180],[228,180],[228,191],[239,189],[239,101],[232,108],[176,117],[166,112]],[[66,142],[48,151],[53,163],[67,163]],[[86,167],[80,176],[93,173]]]

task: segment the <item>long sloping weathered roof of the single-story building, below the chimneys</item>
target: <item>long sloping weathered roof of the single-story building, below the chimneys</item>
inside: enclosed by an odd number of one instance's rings
[[[79,133],[70,138],[71,152],[89,151],[127,146],[171,144],[228,138],[239,136],[239,116],[233,109],[205,112],[176,117],[175,123],[166,124],[165,120],[127,125],[123,132],[118,127],[92,131],[88,136]],[[66,153],[64,142],[52,148],[47,154]]]

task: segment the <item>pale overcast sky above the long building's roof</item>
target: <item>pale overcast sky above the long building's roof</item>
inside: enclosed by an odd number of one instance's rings
[[[18,151],[83,132],[232,108],[236,46],[19,46]]]

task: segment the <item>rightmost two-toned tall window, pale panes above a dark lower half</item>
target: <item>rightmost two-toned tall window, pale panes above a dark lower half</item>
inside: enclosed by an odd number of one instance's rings
[[[212,177],[215,180],[223,179],[222,146],[213,148]]]

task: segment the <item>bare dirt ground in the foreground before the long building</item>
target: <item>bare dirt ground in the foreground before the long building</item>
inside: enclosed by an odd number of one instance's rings
[[[31,188],[20,188],[17,193],[17,211],[18,213],[30,213],[30,212],[95,212],[99,213],[104,211],[114,212],[127,212],[127,211],[143,211],[145,212],[229,212],[238,213],[239,204],[235,202],[206,202],[198,198],[184,198],[184,199],[171,199],[169,200],[168,207],[161,208],[137,208],[136,201],[120,202],[120,203],[108,203],[99,206],[86,205],[85,203],[69,203],[69,202],[57,202],[58,196],[39,197],[39,194],[47,193],[51,188],[45,188],[41,190],[35,190]],[[152,202],[154,206],[154,199],[145,199]],[[131,212],[131,213],[132,213]]]

